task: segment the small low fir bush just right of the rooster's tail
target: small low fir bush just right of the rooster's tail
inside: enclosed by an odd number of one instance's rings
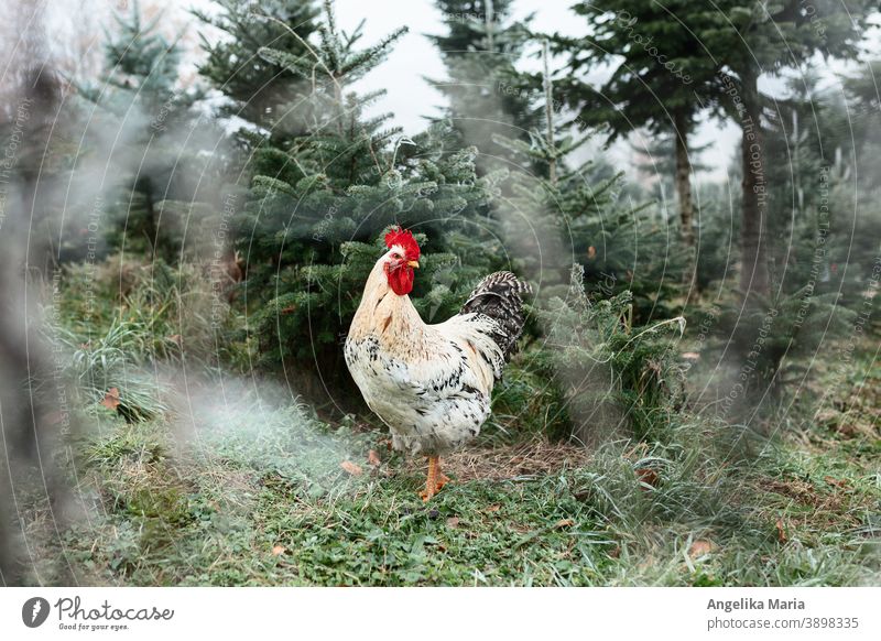
[[[547,328],[534,365],[562,390],[573,435],[599,445],[622,432],[656,439],[666,422],[659,413],[682,404],[684,371],[674,340],[682,317],[634,326],[632,294],[596,301],[575,265],[566,289],[533,309]]]

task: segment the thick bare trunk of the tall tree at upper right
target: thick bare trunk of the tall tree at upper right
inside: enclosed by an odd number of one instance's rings
[[[740,289],[750,294],[768,294],[768,245],[765,229],[764,150],[762,149],[761,105],[758,75],[748,69],[741,74],[743,113],[740,119],[741,157],[743,165],[743,203],[740,222]]]

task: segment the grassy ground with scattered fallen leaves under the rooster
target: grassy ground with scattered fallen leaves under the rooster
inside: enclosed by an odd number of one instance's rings
[[[29,580],[878,585],[871,350],[849,377],[864,383],[858,395],[846,381],[771,438],[688,414],[670,419],[663,443],[592,449],[488,430],[447,458],[454,482],[427,504],[424,461],[354,419],[327,424],[243,391],[214,410],[197,402],[186,420],[172,409],[128,423],[100,406],[89,415],[99,430],[74,448],[64,559],[45,506],[25,517],[42,559]]]

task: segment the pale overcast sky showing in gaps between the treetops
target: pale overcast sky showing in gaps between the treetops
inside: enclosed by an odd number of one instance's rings
[[[180,31],[187,26],[186,43],[194,50],[197,47],[196,33],[202,26],[187,14],[186,9],[198,7],[210,8],[210,0],[189,0],[189,2],[175,2],[174,0],[142,0],[144,4],[164,4],[166,7],[167,23],[171,32]],[[84,9],[91,4],[91,10]],[[88,29],[87,24],[106,23],[108,9],[124,7],[127,0],[52,0],[54,29],[53,33],[62,33],[72,28]],[[585,29],[585,21],[575,17],[568,9],[570,0],[516,0],[514,18],[523,18],[534,13],[533,29],[537,31],[578,34]],[[354,29],[362,19],[366,19],[363,43],[374,43],[401,25],[410,28],[410,32],[398,42],[384,64],[355,86],[357,90],[372,90],[383,87],[388,95],[373,108],[374,112],[391,111],[394,122],[403,127],[405,133],[413,134],[425,127],[426,116],[436,116],[444,105],[444,97],[436,91],[425,78],[443,79],[446,70],[437,50],[425,34],[442,33],[444,25],[440,12],[431,0],[382,0],[366,2],[365,0],[337,0],[337,20],[345,30]],[[70,19],[75,20],[72,21]],[[73,25],[73,26],[72,26]],[[100,36],[99,32],[96,32]],[[879,54],[879,42],[872,42],[870,48]],[[194,52],[194,55],[198,55]],[[536,59],[524,61],[525,67],[536,68]],[[825,69],[824,78],[827,86],[838,85],[837,76],[852,70],[855,62],[835,62]],[[773,90],[782,83],[774,79],[763,79],[764,89]],[[694,146],[709,144],[701,161],[709,167],[707,177],[724,178],[726,171],[733,157],[737,145],[738,129],[732,122],[719,121],[704,122],[693,141]],[[635,144],[640,135],[634,137]],[[626,145],[619,145],[612,152],[612,159],[624,169],[630,151]]]

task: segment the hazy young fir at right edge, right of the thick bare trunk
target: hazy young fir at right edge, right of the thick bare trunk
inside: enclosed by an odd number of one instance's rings
[[[852,329],[853,311],[862,311],[879,217],[871,208],[856,214],[860,189],[846,122],[839,97],[818,90],[809,70],[764,117],[763,177],[773,185],[766,207],[775,213],[766,229],[785,242],[768,249],[772,293],[754,295],[748,307],[742,301],[722,304],[719,317],[722,345],[739,359],[740,380],[732,384],[743,385],[749,399],[770,392],[772,400],[786,383],[803,383],[809,372],[804,363],[825,341]],[[740,398],[732,417],[758,405]]]

